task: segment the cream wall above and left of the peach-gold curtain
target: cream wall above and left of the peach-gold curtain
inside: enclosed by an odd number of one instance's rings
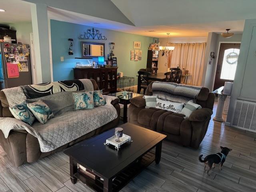
[[[161,46],[165,46],[167,42],[167,38],[159,38],[159,42]],[[207,37],[190,37],[190,38],[169,38],[169,42],[171,43],[202,43],[207,42]],[[167,58],[166,56],[162,56],[159,54],[158,58],[158,72],[165,73],[169,71],[167,68]]]

